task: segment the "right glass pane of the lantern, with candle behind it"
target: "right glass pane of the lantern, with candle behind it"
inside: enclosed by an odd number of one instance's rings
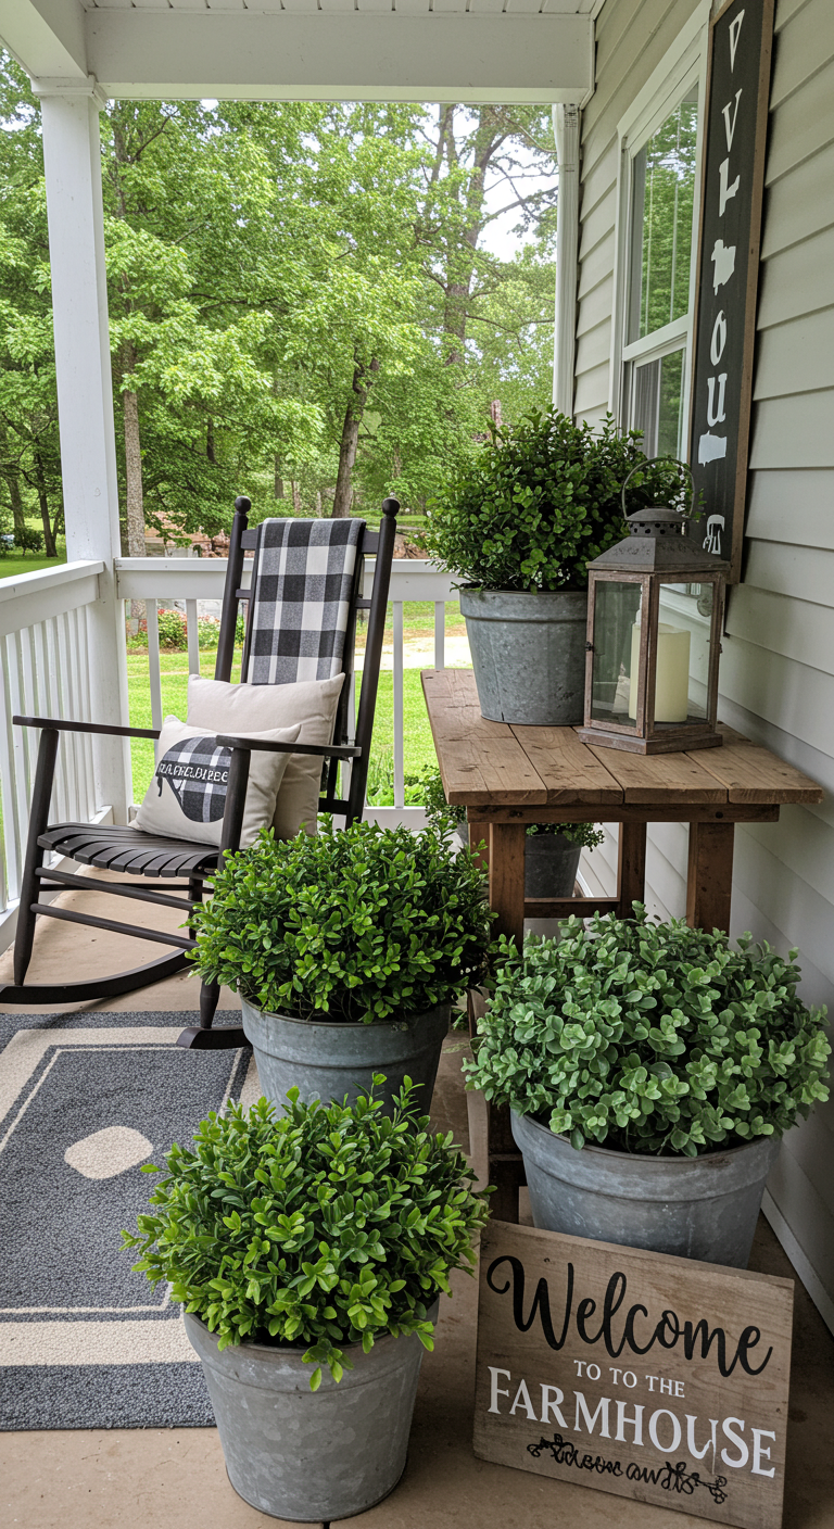
[[[690,596],[684,599],[678,590],[679,584],[672,579],[660,587],[655,732],[705,726],[709,717],[710,628],[695,621],[690,612],[693,604],[701,615],[707,609],[712,612],[713,586],[692,584]]]

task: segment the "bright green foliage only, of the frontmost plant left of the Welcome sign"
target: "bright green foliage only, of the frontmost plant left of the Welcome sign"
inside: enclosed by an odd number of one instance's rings
[[[384,1078],[373,1079],[375,1084]],[[448,1136],[412,1113],[406,1083],[393,1118],[373,1095],[353,1105],[301,1104],[275,1118],[266,1099],[230,1105],[171,1147],[153,1209],[139,1216],[135,1269],[167,1280],[219,1347],[243,1339],[306,1347],[311,1390],[335,1381],[376,1338],[416,1333],[433,1347],[428,1309],[448,1275],[474,1263],[487,1199]],[[145,1173],[159,1173],[148,1167]]]

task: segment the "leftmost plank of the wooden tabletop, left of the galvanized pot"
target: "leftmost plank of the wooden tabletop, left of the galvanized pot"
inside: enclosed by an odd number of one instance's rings
[[[424,670],[421,679],[447,801],[545,806],[546,786],[519,740],[481,716],[471,670]]]

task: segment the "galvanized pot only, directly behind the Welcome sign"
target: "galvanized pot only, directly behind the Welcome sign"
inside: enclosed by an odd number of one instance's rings
[[[536,1226],[745,1269],[780,1138],[702,1157],[583,1147],[513,1110]]]

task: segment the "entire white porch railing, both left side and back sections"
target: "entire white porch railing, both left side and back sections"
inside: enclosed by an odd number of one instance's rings
[[[2,578],[0,563],[0,951],[14,939],[29,803],[38,734],[14,728],[12,716],[92,720],[86,607],[99,598],[103,563],[66,563],[38,573]],[[369,563],[366,592],[373,564]],[[226,564],[222,558],[119,558],[119,599],[144,599],[148,627],[150,703],[153,726],[162,725],[158,609],[185,601],[188,671],[200,673],[197,601],[220,599]],[[245,566],[243,584],[249,567]],[[396,560],[392,570],[393,650],[393,807],[369,809],[383,823],[419,827],[424,813],[404,804],[404,645],[402,605],[435,605],[435,667],[444,668],[445,604],[458,599],[451,579],[428,563]],[[98,708],[98,713],[101,708]],[[98,716],[98,720],[104,720]],[[113,722],[118,719],[113,719]],[[106,821],[110,804],[95,800],[89,734],[61,734],[52,813],[64,821]]]

